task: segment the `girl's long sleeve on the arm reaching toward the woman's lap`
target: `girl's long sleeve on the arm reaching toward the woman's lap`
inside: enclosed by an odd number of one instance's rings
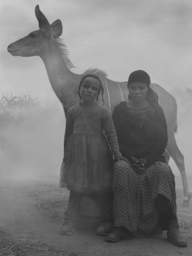
[[[111,147],[114,158],[122,156],[119,151],[116,129],[114,128],[111,113],[107,108],[103,111],[101,115],[101,120],[103,123],[105,134],[107,136],[108,144]]]

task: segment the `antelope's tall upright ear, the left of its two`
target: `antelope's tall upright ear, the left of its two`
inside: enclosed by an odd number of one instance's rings
[[[52,29],[50,27],[50,24],[44,16],[44,14],[40,11],[39,5],[36,5],[35,7],[35,16],[37,18],[37,21],[39,21],[39,28],[44,31],[47,35],[52,35]]]

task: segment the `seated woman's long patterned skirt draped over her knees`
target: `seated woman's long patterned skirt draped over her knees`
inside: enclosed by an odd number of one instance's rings
[[[144,174],[137,174],[131,163],[119,161],[113,173],[114,226],[126,227],[133,236],[162,234],[158,226],[155,199],[161,194],[169,199],[176,215],[175,177],[168,164],[155,162]]]

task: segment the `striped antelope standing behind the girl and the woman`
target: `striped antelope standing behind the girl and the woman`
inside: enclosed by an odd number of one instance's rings
[[[40,11],[39,5],[35,7],[35,15],[39,22],[39,30],[33,31],[22,39],[11,43],[8,46],[8,52],[13,56],[41,57],[46,66],[53,91],[63,106],[65,116],[69,107],[78,104],[78,99],[75,98],[78,92],[78,85],[82,76],[88,73],[97,74],[103,82],[105,105],[111,112],[113,111],[113,107],[119,104],[120,101],[127,100],[127,82],[112,81],[107,78],[105,72],[99,69],[88,69],[83,74],[73,73],[71,68],[74,66],[68,57],[66,44],[59,38],[62,34],[61,21],[56,20],[52,24],[49,24],[46,16]],[[161,86],[151,84],[150,87],[158,94],[159,105],[162,106],[167,120],[169,139],[165,150],[165,157],[167,162],[169,162],[169,158],[172,157],[180,170],[184,192],[182,206],[187,207],[191,195],[185,174],[184,157],[178,149],[175,139],[175,132],[177,131],[176,100]]]

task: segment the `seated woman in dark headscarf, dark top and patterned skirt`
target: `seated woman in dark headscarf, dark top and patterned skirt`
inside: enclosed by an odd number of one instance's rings
[[[112,115],[125,161],[114,164],[114,230],[106,241],[167,230],[172,244],[186,246],[178,229],[174,175],[162,155],[168,133],[158,96],[144,71],[131,73],[127,87],[130,100],[114,107]]]

